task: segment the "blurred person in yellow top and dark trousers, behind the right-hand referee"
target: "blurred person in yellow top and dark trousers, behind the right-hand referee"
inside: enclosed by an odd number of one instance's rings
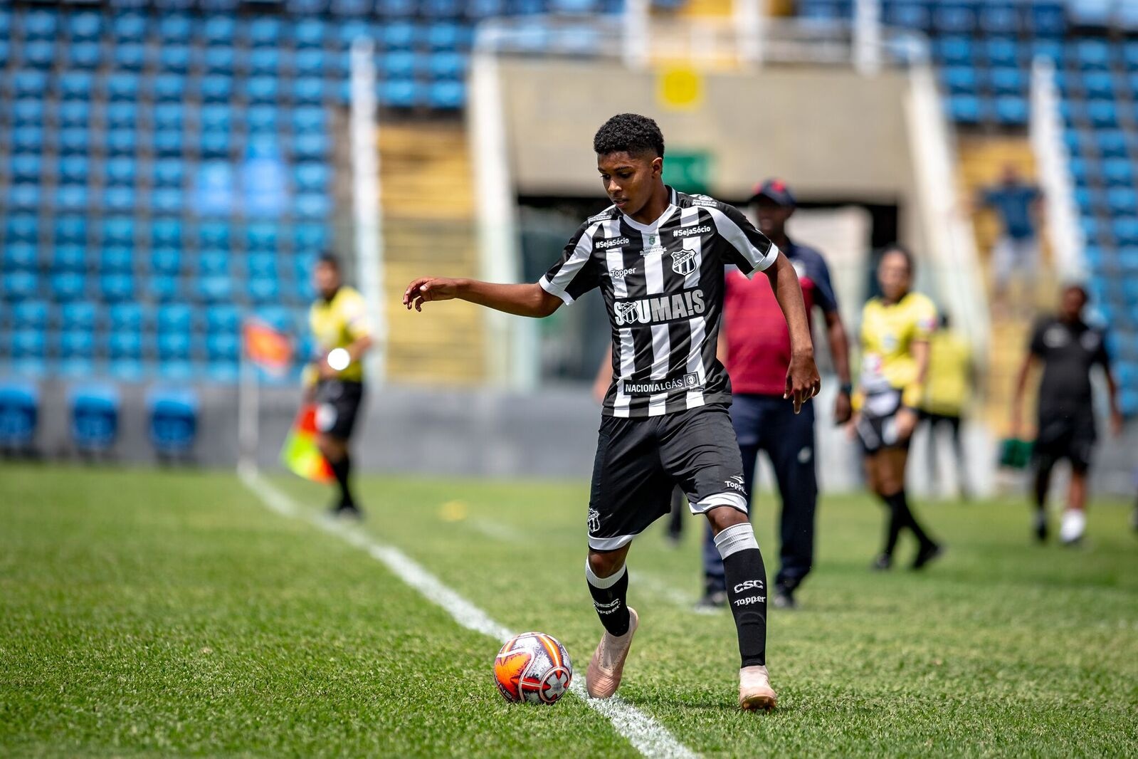
[[[960,497],[970,497],[960,421],[974,385],[972,348],[968,340],[941,314],[940,329],[929,338],[929,380],[921,404],[921,419],[929,423],[929,481],[941,484],[937,456],[939,431],[947,427],[956,456],[956,481]]]

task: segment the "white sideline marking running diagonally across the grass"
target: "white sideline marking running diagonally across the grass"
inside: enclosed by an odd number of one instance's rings
[[[253,468],[239,468],[241,482],[256,495],[265,506],[281,517],[303,519],[346,543],[366,551],[368,554],[387,567],[404,583],[419,591],[423,597],[434,602],[451,614],[454,621],[467,629],[481,633],[497,641],[505,642],[514,636],[509,628],[490,619],[490,617],[443,584],[427,571],[419,562],[398,548],[384,545],[364,535],[358,529],[341,522],[318,517],[298,506],[291,498],[278,490],[269,480]],[[575,677],[570,691],[585,701],[594,710],[601,712],[612,723],[612,727],[628,740],[633,746],[645,757],[660,759],[694,759],[695,752],[677,741],[662,725],[643,711],[625,703],[620,696],[608,701],[589,699],[585,692],[585,678]]]

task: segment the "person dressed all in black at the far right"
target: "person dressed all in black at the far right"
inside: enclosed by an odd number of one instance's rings
[[[1012,435],[1022,430],[1021,407],[1028,387],[1028,374],[1042,364],[1039,383],[1037,432],[1033,451],[1036,465],[1036,537],[1047,539],[1047,490],[1052,469],[1061,459],[1071,462],[1067,508],[1059,525],[1059,541],[1073,545],[1087,527],[1087,470],[1095,448],[1095,409],[1091,403],[1090,370],[1103,368],[1111,403],[1111,426],[1114,435],[1122,431],[1118,387],[1111,373],[1106,353],[1106,335],[1082,321],[1087,291],[1081,284],[1063,288],[1058,313],[1040,319],[1031,333],[1028,355],[1020,366],[1012,404]]]

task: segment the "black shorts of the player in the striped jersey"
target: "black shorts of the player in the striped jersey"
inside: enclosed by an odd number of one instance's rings
[[[724,404],[649,419],[604,416],[588,500],[588,546],[615,551],[668,513],[673,487],[701,514],[747,513],[743,460]]]

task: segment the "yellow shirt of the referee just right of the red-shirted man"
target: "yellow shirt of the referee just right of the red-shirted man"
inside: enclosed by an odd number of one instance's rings
[[[916,409],[923,390],[910,346],[927,340],[937,329],[937,307],[920,292],[885,305],[873,298],[861,311],[861,378],[865,395],[901,390],[901,404]]]

